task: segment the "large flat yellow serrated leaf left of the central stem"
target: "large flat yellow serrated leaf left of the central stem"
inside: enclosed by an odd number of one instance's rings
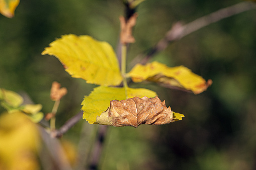
[[[90,36],[62,36],[45,48],[45,54],[58,58],[72,77],[87,83],[116,86],[123,80],[113,48]]]

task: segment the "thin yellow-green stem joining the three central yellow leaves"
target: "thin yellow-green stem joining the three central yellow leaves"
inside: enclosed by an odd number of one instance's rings
[[[125,96],[126,99],[128,98],[127,95],[127,80],[126,80],[126,54],[127,54],[127,45],[123,44],[122,45],[122,65],[121,65],[121,73],[123,76],[123,85],[124,85],[124,90],[125,90]]]

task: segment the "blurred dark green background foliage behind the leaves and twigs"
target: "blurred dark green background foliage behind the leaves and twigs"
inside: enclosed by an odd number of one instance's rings
[[[146,0],[137,8],[136,43],[129,47],[128,63],[174,23],[188,23],[239,2]],[[51,83],[61,83],[68,94],[56,117],[60,127],[96,86],[71,78],[55,57],[41,52],[64,34],[90,35],[115,49],[123,13],[121,0],[21,0],[13,19],[0,16],[0,87],[26,92],[47,113],[54,104]],[[156,91],[185,118],[162,126],[110,127],[101,169],[256,169],[256,10],[209,25],[152,60],[184,65],[213,84],[199,95],[131,84]],[[128,71],[132,66],[128,64]],[[77,145],[84,124],[86,120],[80,120],[63,138]]]

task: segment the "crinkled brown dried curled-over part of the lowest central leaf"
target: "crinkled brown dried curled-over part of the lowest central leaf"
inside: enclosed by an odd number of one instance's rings
[[[161,102],[157,96],[155,98],[133,97],[121,101],[112,100],[109,109],[101,116],[97,116],[96,123],[116,127],[138,127],[140,124],[161,125],[181,120],[184,115],[176,115],[176,119],[173,117],[170,107],[167,108],[165,101]]]

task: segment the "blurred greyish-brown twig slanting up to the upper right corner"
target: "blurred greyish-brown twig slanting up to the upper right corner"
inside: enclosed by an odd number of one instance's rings
[[[252,9],[256,9],[256,5],[250,2],[242,2],[221,10],[218,10],[214,13],[211,13],[207,16],[201,17],[191,23],[188,23],[186,25],[182,25],[181,22],[178,22],[174,24],[172,29],[170,29],[165,37],[161,39],[155,47],[149,49],[146,56],[143,58],[143,60],[140,62],[141,64],[146,64],[148,60],[155,55],[156,53],[164,50],[169,43],[172,43],[174,41],[180,40],[181,38],[203,28],[206,27],[212,23],[218,22],[222,19],[225,19],[227,17],[240,14],[245,11],[249,11]],[[141,58],[142,55],[137,56],[134,61],[137,61],[138,58]],[[132,62],[135,63],[135,62]]]

